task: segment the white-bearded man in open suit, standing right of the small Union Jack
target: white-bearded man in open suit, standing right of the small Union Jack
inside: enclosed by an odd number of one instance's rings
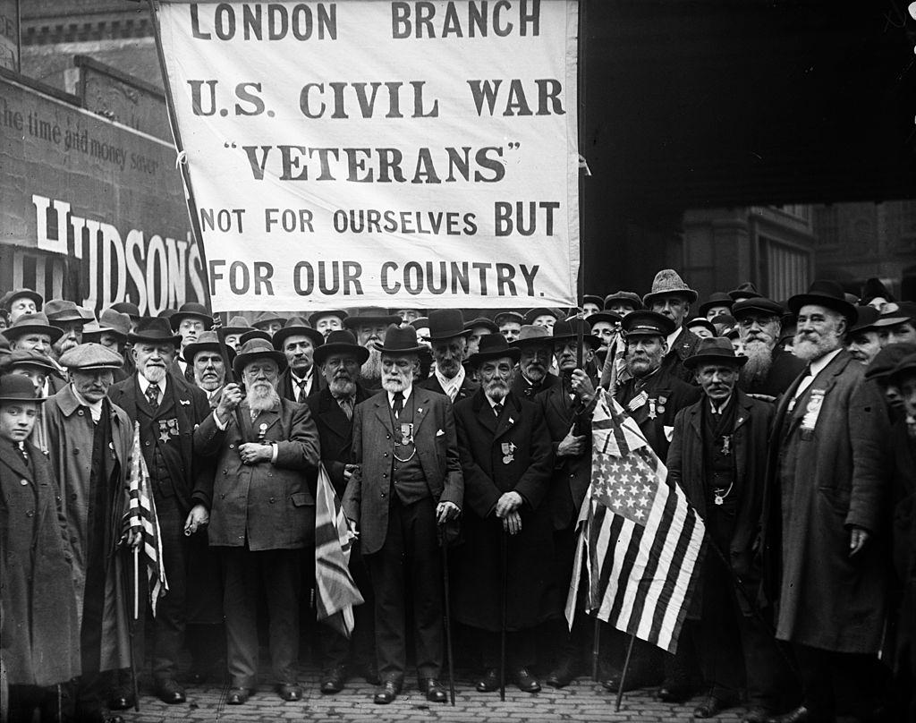
[[[359,530],[375,588],[382,683],[375,702],[391,703],[404,684],[411,597],[417,683],[431,703],[444,703],[437,526],[457,519],[464,488],[452,403],[444,394],[413,385],[423,347],[412,326],[392,323],[377,348],[383,390],[354,412],[356,467],[343,500],[344,513]]]

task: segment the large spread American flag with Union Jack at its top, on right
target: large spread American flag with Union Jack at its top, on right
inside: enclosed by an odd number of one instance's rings
[[[592,483],[579,512],[566,619],[585,611],[675,652],[703,552],[703,520],[636,422],[604,389],[592,420]]]

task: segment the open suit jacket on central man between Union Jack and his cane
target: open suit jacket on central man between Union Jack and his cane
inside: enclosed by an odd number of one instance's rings
[[[461,507],[464,479],[452,402],[444,394],[414,386],[408,400],[414,409],[414,444],[432,498]],[[353,461],[359,465],[344,494],[344,513],[357,520],[363,554],[377,553],[388,531],[394,431],[387,391],[356,406],[353,415]]]

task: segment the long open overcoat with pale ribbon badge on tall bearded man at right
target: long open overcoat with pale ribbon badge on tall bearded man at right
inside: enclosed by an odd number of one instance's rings
[[[884,400],[864,371],[840,351],[790,409],[796,379],[769,441],[765,573],[777,637],[835,652],[878,652],[887,612]],[[853,527],[871,539],[850,557]]]

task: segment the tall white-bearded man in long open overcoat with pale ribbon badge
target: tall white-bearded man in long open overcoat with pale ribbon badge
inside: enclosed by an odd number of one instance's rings
[[[776,637],[792,644],[804,695],[776,720],[868,720],[887,611],[883,402],[843,348],[856,307],[839,284],[814,281],[789,309],[807,367],[773,422],[763,550]]]

